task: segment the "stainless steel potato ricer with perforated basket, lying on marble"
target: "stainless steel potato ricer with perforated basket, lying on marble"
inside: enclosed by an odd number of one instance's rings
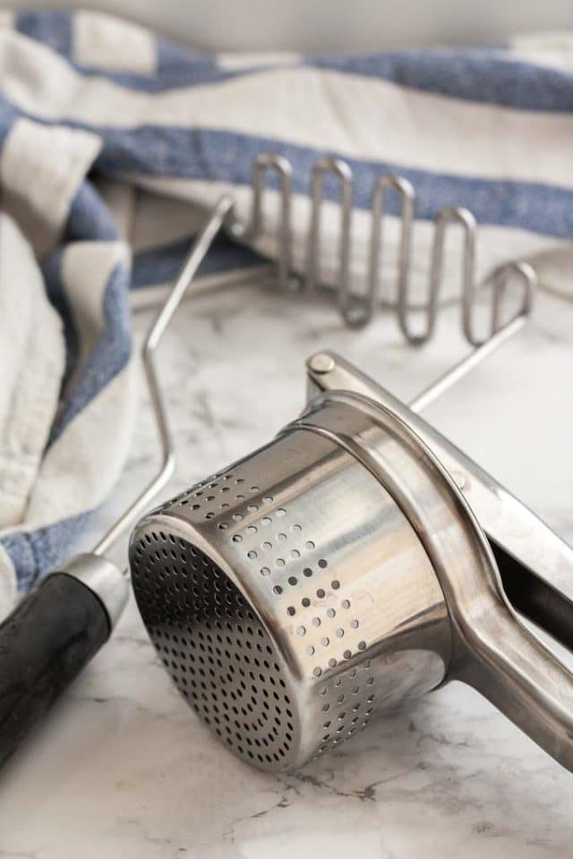
[[[264,770],[457,679],[573,769],[573,552],[335,353],[304,413],[133,532],[141,617],[192,709]]]

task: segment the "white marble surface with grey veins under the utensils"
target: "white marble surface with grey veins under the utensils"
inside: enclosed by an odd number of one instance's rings
[[[526,334],[428,412],[566,539],[571,319],[573,308],[543,298]],[[138,330],[148,321],[139,315]],[[161,353],[179,456],[167,492],[291,418],[303,404],[308,353],[336,348],[407,398],[464,353],[457,327],[458,311],[448,311],[437,341],[413,352],[388,318],[351,333],[328,307],[245,288],[186,303]],[[133,456],[96,530],[154,462],[143,404]],[[0,857],[565,857],[572,797],[573,777],[458,684],[382,717],[295,775],[252,770],[175,692],[132,602],[4,769]]]

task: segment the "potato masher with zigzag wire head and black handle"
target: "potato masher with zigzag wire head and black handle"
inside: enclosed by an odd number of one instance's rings
[[[340,241],[338,259],[338,303],[346,324],[362,327],[371,319],[380,285],[380,261],[383,251],[381,226],[385,214],[385,195],[398,194],[401,208],[400,250],[398,260],[398,321],[407,342],[421,345],[435,332],[440,285],[443,275],[444,239],[450,221],[457,221],[464,232],[462,255],[462,328],[466,339],[480,346],[442,380],[435,391],[448,385],[459,374],[465,373],[493,348],[513,335],[521,327],[531,310],[535,290],[535,272],[525,263],[511,262],[498,268],[488,278],[492,282],[491,322],[488,334],[483,337],[475,330],[475,219],[466,209],[449,208],[436,217],[434,242],[430,260],[428,301],[422,308],[425,321],[422,330],[411,325],[409,271],[412,256],[411,235],[415,209],[415,191],[405,179],[382,176],[373,189],[372,231],[370,238],[370,265],[367,293],[358,296],[350,292],[348,276],[351,255],[350,225],[352,217],[353,176],[345,162],[322,158],[312,170],[312,207],[308,227],[305,272],[297,280],[292,269],[292,167],[284,157],[263,154],[253,165],[252,208],[250,223],[244,229],[237,217],[233,201],[222,197],[211,210],[201,233],[193,243],[189,258],[158,317],[150,328],[143,345],[142,360],[150,387],[151,403],[158,422],[159,441],[163,462],[156,477],[144,489],[124,515],[89,554],[73,558],[62,570],[49,574],[38,587],[27,595],[10,617],[0,625],[0,765],[20,743],[30,727],[41,718],[50,704],[66,685],[87,664],[99,647],[107,641],[120,616],[127,595],[127,584],[122,574],[104,555],[115,544],[141,512],[150,498],[162,486],[173,470],[173,447],[169,435],[167,415],[154,369],[154,354],[159,340],[179,302],[184,298],[201,260],[210,244],[224,227],[239,241],[255,246],[263,227],[263,198],[269,171],[278,175],[280,225],[277,236],[276,265],[261,266],[255,275],[252,271],[227,272],[211,278],[206,285],[195,283],[193,293],[219,286],[239,285],[256,279],[278,277],[278,285],[290,288],[300,285],[301,292],[313,293],[321,286],[319,259],[321,251],[321,213],[325,180],[333,174],[340,184]],[[509,321],[501,319],[501,303],[512,280],[521,283],[522,300],[517,313]],[[330,290],[330,292],[332,292]],[[418,309],[419,310],[419,309]]]

